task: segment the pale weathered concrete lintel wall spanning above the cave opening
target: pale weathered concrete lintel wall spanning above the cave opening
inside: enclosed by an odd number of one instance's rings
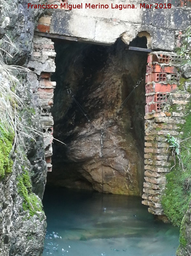
[[[172,8],[155,9],[155,3],[165,1],[147,1],[152,8],[140,8],[139,1],[105,0],[108,9],[85,8],[86,0],[82,0],[82,9],[65,10],[60,9],[60,1],[49,0],[55,3],[58,8],[45,13],[40,18],[37,26],[37,33],[45,33],[47,36],[64,38],[68,37],[74,41],[89,41],[111,45],[117,38],[121,37],[125,43],[132,41],[137,35],[147,36],[148,48],[161,50],[174,50],[176,47],[175,38],[180,30],[188,26],[190,8],[181,1],[177,1]],[[99,1],[88,1],[90,4],[99,4]],[[169,1],[168,1],[169,3]],[[70,4],[79,4],[77,0],[71,0]],[[119,10],[111,8],[111,5],[134,4],[135,8]],[[180,7],[182,6],[182,7]],[[143,32],[141,32],[143,31]],[[147,33],[145,33],[147,31]],[[143,33],[143,34],[141,34]]]

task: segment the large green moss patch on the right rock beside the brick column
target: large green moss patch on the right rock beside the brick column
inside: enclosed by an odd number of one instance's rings
[[[176,158],[175,168],[166,175],[167,185],[165,196],[162,197],[162,205],[165,215],[173,223],[173,225],[180,226],[183,216],[188,207],[191,192],[191,112],[189,111],[186,117],[186,123],[183,125],[183,136],[180,140],[184,140],[181,145],[181,159],[183,167]],[[187,139],[189,138],[189,139]],[[174,165],[174,162],[172,163]],[[184,244],[185,241],[181,237]]]

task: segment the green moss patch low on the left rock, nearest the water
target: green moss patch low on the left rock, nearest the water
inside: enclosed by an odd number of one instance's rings
[[[31,216],[37,214],[37,211],[42,211],[42,203],[40,199],[31,192],[31,180],[29,173],[24,170],[22,175],[18,177],[18,192],[23,197],[23,210],[29,210]]]

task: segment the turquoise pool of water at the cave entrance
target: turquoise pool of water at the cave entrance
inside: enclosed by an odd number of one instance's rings
[[[43,205],[43,256],[175,256],[179,229],[154,220],[141,198],[47,188]]]

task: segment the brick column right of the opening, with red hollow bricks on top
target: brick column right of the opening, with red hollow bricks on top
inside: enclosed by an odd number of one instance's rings
[[[151,53],[147,59],[146,106],[145,106],[145,172],[142,203],[149,212],[163,215],[161,197],[166,184],[166,173],[170,172],[172,154],[166,143],[166,135],[180,134],[180,124],[185,121],[183,109],[189,94],[176,93],[178,71],[174,65],[179,61],[169,53]],[[172,106],[178,104],[176,111]]]

